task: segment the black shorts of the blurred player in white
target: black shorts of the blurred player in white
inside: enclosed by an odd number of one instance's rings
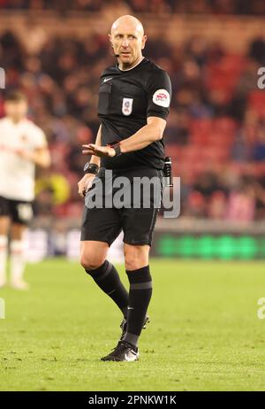
[[[33,217],[32,203],[0,196],[1,216],[8,216],[13,223],[27,225]]]

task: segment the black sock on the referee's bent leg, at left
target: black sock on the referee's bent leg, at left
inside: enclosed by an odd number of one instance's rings
[[[120,281],[115,266],[112,266],[108,260],[105,260],[102,266],[95,268],[95,270],[86,270],[86,272],[113,299],[126,318],[129,295],[124,284]]]

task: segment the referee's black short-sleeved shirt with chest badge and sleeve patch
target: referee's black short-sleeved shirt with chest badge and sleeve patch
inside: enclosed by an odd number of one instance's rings
[[[148,117],[164,120],[169,114],[171,83],[169,75],[152,61],[143,58],[138,66],[121,71],[110,66],[101,76],[98,116],[102,123],[102,146],[119,142],[147,124]],[[163,168],[163,139],[146,148],[101,159],[107,169],[134,166]]]

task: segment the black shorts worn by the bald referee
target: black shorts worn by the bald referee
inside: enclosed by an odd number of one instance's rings
[[[121,189],[113,188],[110,191],[109,188],[106,188],[107,181],[115,182],[118,176],[127,178],[126,180],[129,181],[128,189],[131,190],[131,197],[127,201],[125,200],[124,205],[121,206],[117,203],[110,205],[109,202],[108,204],[108,200],[113,199],[117,192],[121,192]],[[150,194],[146,195],[147,192],[141,189],[140,196],[133,195],[134,177],[145,177],[148,180],[155,177],[155,185],[151,186]],[[163,194],[163,172],[155,168],[138,167],[123,172],[115,171],[109,177],[106,175],[106,170],[102,168],[94,181],[94,185],[87,191],[85,198],[81,241],[105,242],[110,246],[123,230],[125,243],[134,245],[148,244],[151,246],[155,221]],[[102,182],[102,190],[99,188],[99,181]],[[97,191],[102,196],[102,203],[91,206],[88,199],[93,195],[95,198]],[[145,202],[147,197],[150,199],[149,203],[148,200]]]

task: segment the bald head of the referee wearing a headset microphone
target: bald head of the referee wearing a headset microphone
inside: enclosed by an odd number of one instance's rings
[[[111,29],[110,43],[124,68],[130,68],[140,61],[146,41],[142,26],[134,22],[124,20]]]

